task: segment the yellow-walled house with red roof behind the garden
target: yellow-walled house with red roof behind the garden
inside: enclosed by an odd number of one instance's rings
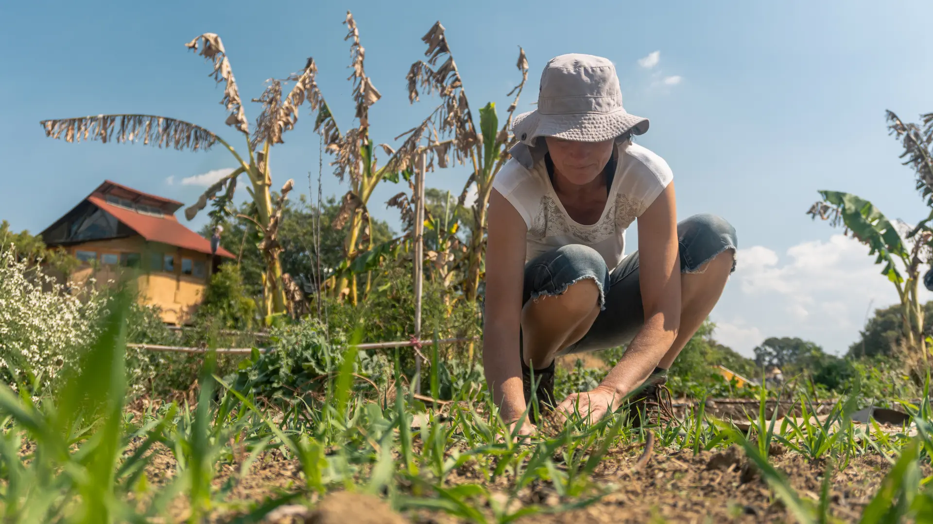
[[[158,306],[163,322],[183,324],[211,273],[235,256],[222,247],[213,253],[211,241],[178,222],[174,214],[182,205],[107,180],[40,235],[81,261],[73,281],[106,283],[130,274],[143,303]]]

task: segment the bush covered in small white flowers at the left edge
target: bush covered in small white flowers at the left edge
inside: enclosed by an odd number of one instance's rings
[[[52,386],[91,343],[105,302],[93,286],[69,293],[41,267],[0,249],[0,377],[34,393]]]

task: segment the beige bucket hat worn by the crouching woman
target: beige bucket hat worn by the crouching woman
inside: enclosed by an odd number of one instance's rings
[[[579,142],[602,142],[648,131],[648,118],[622,107],[616,67],[593,55],[566,54],[550,59],[541,74],[537,109],[515,117],[512,132],[519,144],[512,156],[522,164],[543,155],[542,136]],[[537,156],[537,155],[535,155]]]

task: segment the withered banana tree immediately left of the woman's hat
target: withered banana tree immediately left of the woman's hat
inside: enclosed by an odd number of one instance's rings
[[[519,48],[519,60],[516,65],[522,73],[522,81],[506,95],[511,96],[513,93],[515,95],[508,106],[506,122],[499,128],[495,103],[487,103],[480,109],[478,130],[466,99],[463,79],[460,77],[456,63],[453,62],[453,54],[451,54],[447,37],[444,34],[444,26],[439,21],[435,22],[431,30],[422,37],[422,41],[427,45],[425,56],[428,59],[427,62],[419,60],[411,64],[407,76],[409,100],[414,103],[418,101],[419,94],[438,91],[443,110],[439,114],[437,127],[439,131],[453,135],[453,142],[443,145],[441,158],[446,159],[448,149],[453,148],[454,159],[461,163],[466,163],[468,160],[472,164],[473,172],[460,194],[459,205],[463,205],[466,201],[470,186],[476,184],[476,202],[472,206],[472,213],[464,217],[469,224],[470,235],[466,246],[466,270],[463,281],[466,298],[475,300],[480,288],[480,274],[486,245],[486,208],[493,189],[495,174],[508,160],[508,146],[514,138],[509,133],[509,128],[519,97],[522,96],[525,81],[528,79],[528,61],[525,59],[524,49]],[[441,62],[440,65],[438,62]],[[441,163],[440,167],[446,167],[446,165]]]

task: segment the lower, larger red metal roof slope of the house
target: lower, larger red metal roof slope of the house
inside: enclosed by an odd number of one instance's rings
[[[191,251],[206,253],[208,255],[211,254],[211,241],[179,223],[178,219],[174,217],[174,214],[166,214],[164,216],[139,214],[132,210],[107,203],[106,200],[93,195],[88,197],[88,201],[103,209],[105,212],[114,215],[117,220],[132,228],[133,231],[139,233],[147,241],[166,243],[190,249]],[[235,255],[223,247],[217,248],[217,255],[236,258]]]

